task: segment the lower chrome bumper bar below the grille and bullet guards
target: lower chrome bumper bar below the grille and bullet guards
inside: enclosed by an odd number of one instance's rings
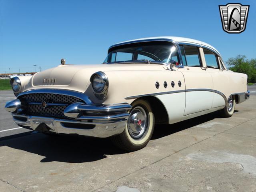
[[[38,116],[25,116],[13,114],[14,123],[23,128],[39,132],[52,132],[60,134],[78,134],[106,138],[124,131],[127,120],[118,122],[88,123],[78,120],[47,118]]]

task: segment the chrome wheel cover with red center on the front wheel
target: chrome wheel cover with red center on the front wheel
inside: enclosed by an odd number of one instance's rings
[[[127,121],[130,136],[134,139],[141,138],[148,130],[148,120],[148,115],[141,106],[133,108]]]

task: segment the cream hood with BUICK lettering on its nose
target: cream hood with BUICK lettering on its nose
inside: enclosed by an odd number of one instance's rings
[[[158,64],[95,64],[95,65],[59,65],[55,68],[36,73],[24,91],[39,88],[68,89],[85,92],[90,77],[98,71],[128,70],[166,70]]]

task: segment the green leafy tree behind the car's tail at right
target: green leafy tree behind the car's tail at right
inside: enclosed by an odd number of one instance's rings
[[[256,60],[248,60],[245,55],[238,55],[236,58],[229,58],[226,64],[229,69],[238,72],[245,73],[248,76],[249,83],[256,82]]]

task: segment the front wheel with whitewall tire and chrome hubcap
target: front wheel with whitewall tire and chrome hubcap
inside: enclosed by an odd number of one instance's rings
[[[155,118],[150,104],[138,99],[132,104],[124,132],[112,137],[112,142],[123,150],[136,151],[144,148],[154,131]]]

